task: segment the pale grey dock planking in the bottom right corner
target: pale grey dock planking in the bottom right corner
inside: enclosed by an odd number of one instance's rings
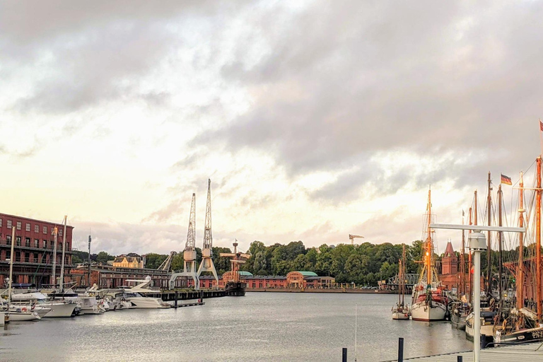
[[[404,358],[404,361],[420,362],[457,362],[457,357],[462,356],[462,361],[473,361],[473,352],[456,352],[452,354],[438,354],[436,356]],[[397,360],[393,360],[397,361]],[[496,348],[481,349],[481,362],[534,362],[543,361],[543,344],[527,343],[516,346],[500,346]],[[392,361],[387,361],[392,362]]]

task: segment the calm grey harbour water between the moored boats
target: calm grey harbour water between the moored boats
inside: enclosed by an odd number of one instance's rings
[[[247,293],[177,310],[120,310],[103,315],[11,322],[0,329],[0,361],[358,361],[471,349],[448,322],[393,321],[396,296]]]

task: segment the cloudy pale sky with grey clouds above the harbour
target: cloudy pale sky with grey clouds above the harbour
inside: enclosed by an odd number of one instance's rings
[[[214,246],[411,243],[430,185],[436,221],[461,223],[489,171],[495,193],[541,152],[542,18],[541,1],[2,1],[1,212],[68,215],[81,250],[91,233],[96,252],[168,253],[193,192],[202,247],[209,178]]]

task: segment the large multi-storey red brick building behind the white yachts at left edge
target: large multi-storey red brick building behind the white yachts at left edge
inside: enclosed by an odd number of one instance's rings
[[[60,223],[40,221],[8,214],[0,214],[0,287],[4,286],[9,276],[9,259],[11,258],[11,228],[15,227],[13,283],[31,283],[37,287],[52,284],[52,263],[54,258],[54,228],[57,235],[57,277],[60,276],[62,262],[62,240],[64,226]],[[64,282],[72,267],[71,247],[73,226],[66,226],[66,250],[64,260]]]

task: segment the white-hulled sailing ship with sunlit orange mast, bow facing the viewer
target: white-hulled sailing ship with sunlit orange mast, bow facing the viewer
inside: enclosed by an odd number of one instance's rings
[[[430,224],[431,190],[428,190],[428,205],[426,206],[426,241],[424,252],[424,264],[419,281],[413,286],[411,300],[411,318],[419,321],[445,320],[448,298],[443,292],[441,282],[438,279],[436,265],[433,262],[433,239]]]

